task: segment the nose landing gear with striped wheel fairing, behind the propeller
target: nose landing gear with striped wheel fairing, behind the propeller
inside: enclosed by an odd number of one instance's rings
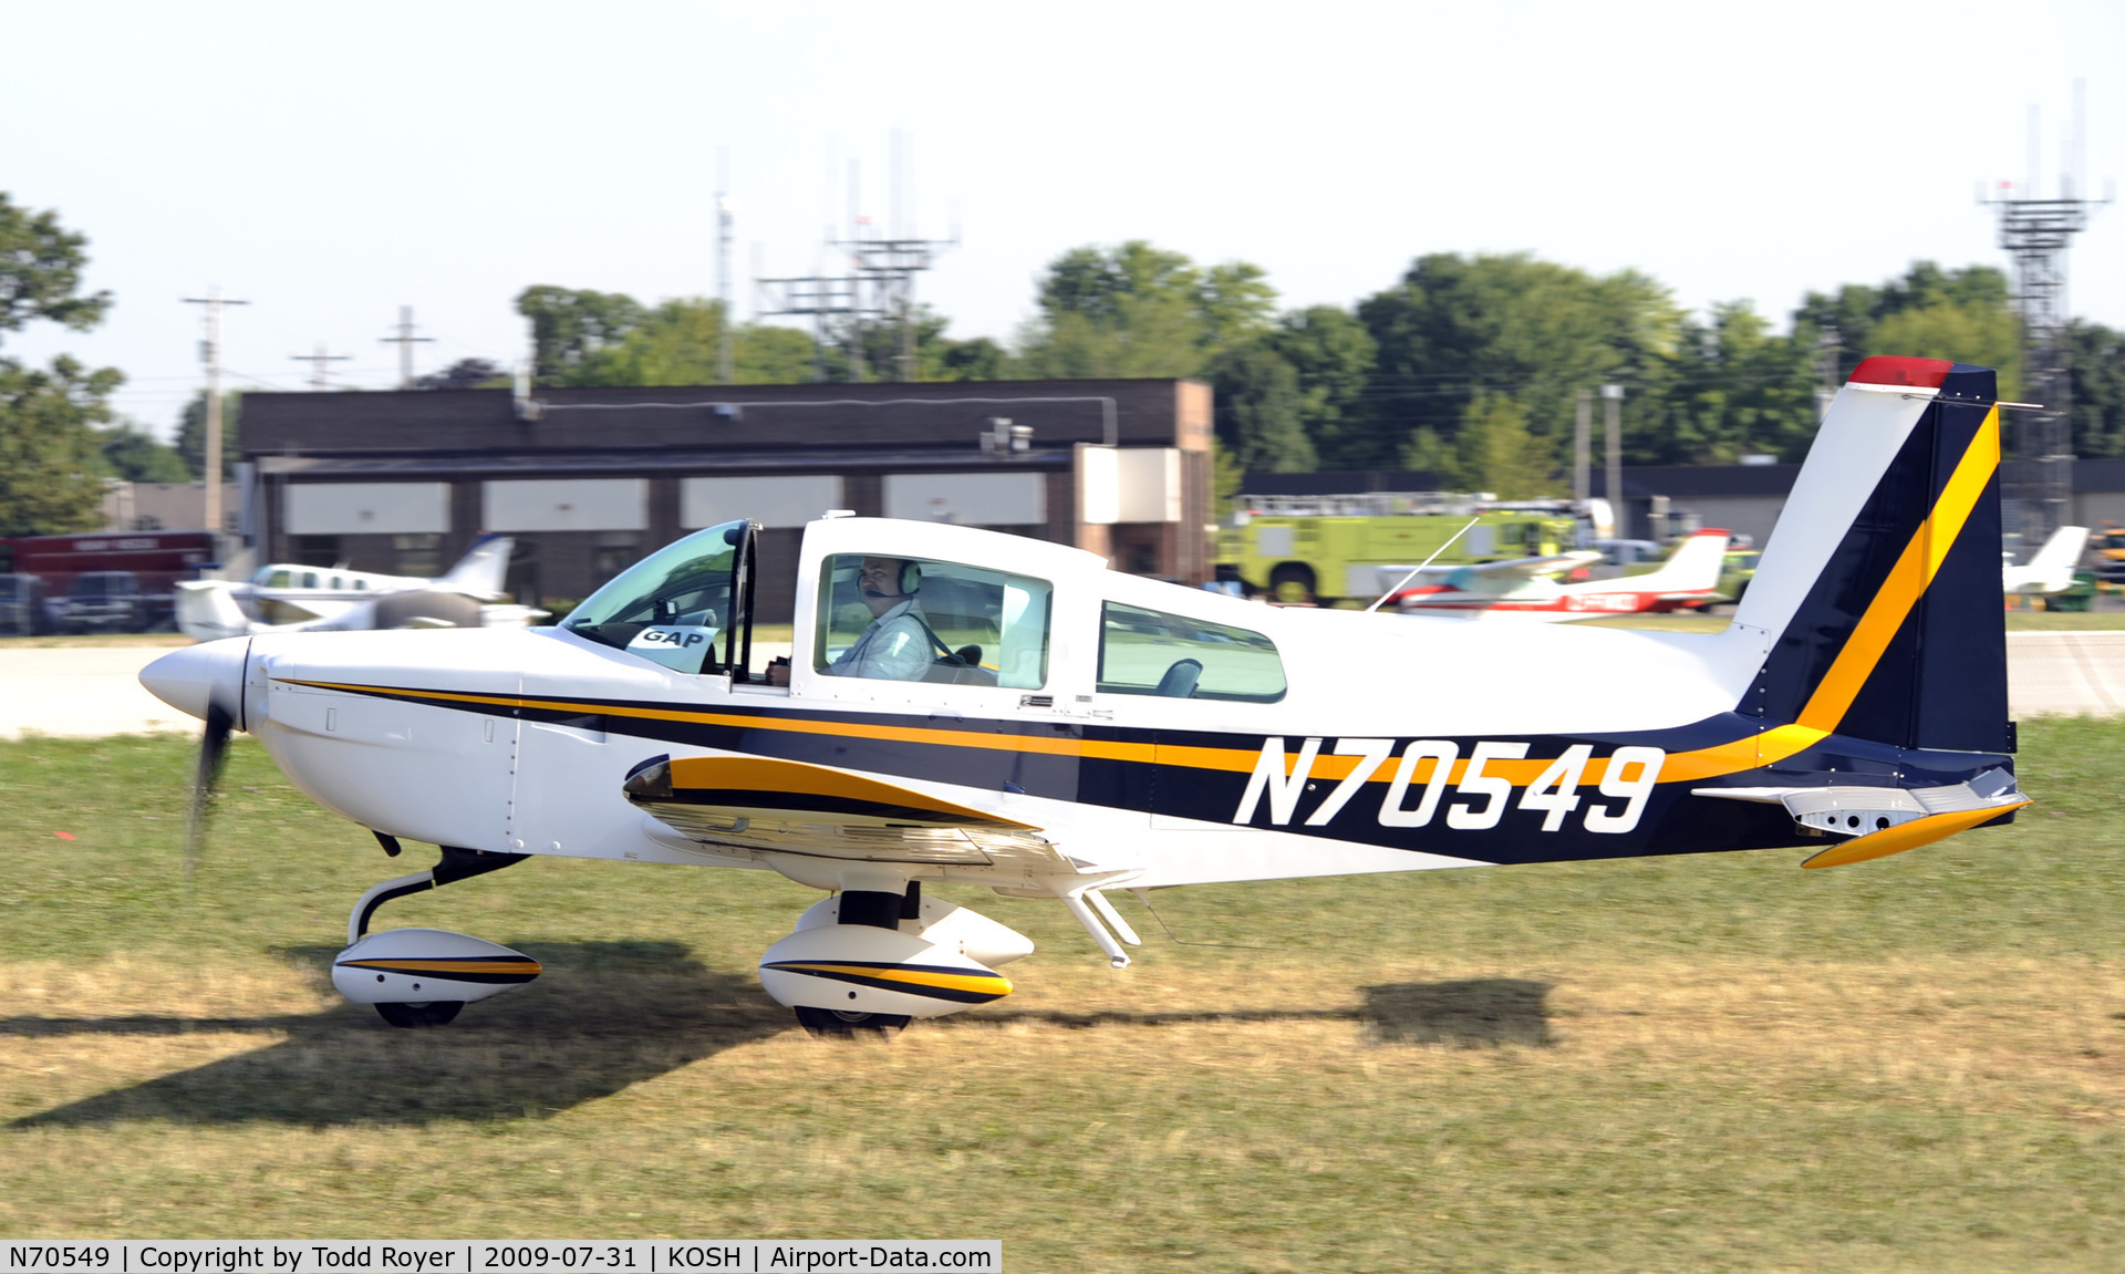
[[[387,851],[395,840],[378,836]],[[395,1027],[440,1027],[465,1004],[514,991],[540,976],[540,963],[497,942],[446,929],[385,929],[370,917],[393,898],[440,889],[521,864],[523,853],[482,853],[444,844],[442,861],[425,872],[376,885],[346,917],[346,951],[332,961],[332,985],[353,1004],[374,1004]]]

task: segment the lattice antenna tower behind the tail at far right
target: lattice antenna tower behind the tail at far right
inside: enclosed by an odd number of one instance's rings
[[[2021,513],[2023,557],[2036,553],[2074,500],[2072,340],[2068,334],[2066,251],[2087,230],[2095,208],[2087,198],[2087,81],[2074,81],[2074,121],[2059,164],[2059,196],[2044,198],[2040,172],[2040,117],[2029,106],[2029,164],[2021,183],[2002,181],[1980,202],[2000,217],[2000,247],[2014,262],[2014,308],[2021,313],[2023,398],[2040,410],[2017,413],[2019,476],[2008,496]]]

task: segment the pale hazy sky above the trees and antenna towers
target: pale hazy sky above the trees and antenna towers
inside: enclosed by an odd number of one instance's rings
[[[963,242],[922,279],[952,334],[1007,338],[1033,279],[1150,238],[1349,304],[1432,251],[1636,268],[1687,306],[1912,259],[2006,264],[1980,179],[2055,189],[2074,77],[2087,170],[2125,177],[2125,2],[2021,4],[98,4],[0,0],[0,189],[89,236],[91,334],[166,430],[221,285],[236,385],[302,387],[325,342],[391,385],[514,359],[529,283],[712,296],[716,151],[754,251],[812,272],[829,217]],[[831,189],[829,189],[831,174]],[[754,245],[759,245],[754,249]],[[2078,315],[2125,325],[2125,208],[2072,253]]]

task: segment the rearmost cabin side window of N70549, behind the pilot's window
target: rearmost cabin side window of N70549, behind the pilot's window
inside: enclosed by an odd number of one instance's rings
[[[1258,632],[1107,602],[1099,625],[1099,689],[1109,695],[1284,698],[1284,659]]]

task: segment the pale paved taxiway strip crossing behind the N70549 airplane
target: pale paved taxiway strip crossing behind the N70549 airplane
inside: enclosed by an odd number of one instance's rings
[[[0,649],[0,738],[198,730],[198,721],[140,689],[140,670],[166,651]],[[2125,632],[2012,632],[2006,651],[2014,717],[2125,713]],[[754,653],[765,659],[786,647]]]

